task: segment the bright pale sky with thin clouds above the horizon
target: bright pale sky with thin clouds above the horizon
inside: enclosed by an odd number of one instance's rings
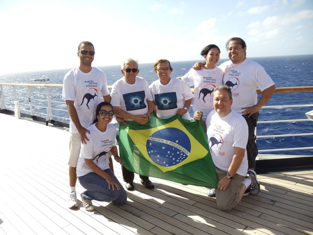
[[[0,0],[0,74],[158,59],[202,61],[201,49],[241,37],[247,57],[313,54],[312,0]]]

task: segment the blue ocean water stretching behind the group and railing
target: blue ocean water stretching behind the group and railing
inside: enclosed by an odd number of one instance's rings
[[[249,59],[259,63],[265,68],[267,73],[274,80],[276,87],[313,86],[313,55],[262,57]],[[223,63],[224,61],[226,61],[226,59],[221,59],[219,64]],[[195,62],[197,61],[171,62],[173,67],[171,76],[174,78],[184,75],[189,71]],[[112,85],[116,80],[122,77],[120,65],[102,66],[98,68],[105,71],[108,79],[108,85]],[[149,84],[158,79],[158,76],[156,76],[155,72],[153,71],[153,63],[139,64],[139,69],[140,72],[138,76],[145,78]],[[69,70],[70,68],[50,71],[0,74],[0,82],[29,83],[30,79],[41,78],[42,75],[45,75],[49,78],[50,84],[62,84],[64,75]],[[313,92],[274,93],[267,106],[296,105],[301,103],[313,104]],[[306,119],[305,113],[311,110],[313,110],[312,107],[287,108],[287,112],[281,112],[282,109],[261,109],[259,121]],[[55,115],[67,115],[68,117],[66,112],[64,114]],[[257,126],[257,135],[285,134],[286,132],[288,134],[311,133],[313,132],[313,122],[308,121],[272,124],[261,123]],[[312,135],[257,139],[257,145],[260,150],[311,147],[312,143]],[[278,154],[278,152],[272,152],[272,154]],[[279,154],[313,155],[313,150],[297,150],[288,152],[283,151],[279,152]]]

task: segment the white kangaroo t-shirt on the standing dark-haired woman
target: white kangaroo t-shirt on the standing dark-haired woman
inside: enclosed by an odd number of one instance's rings
[[[214,110],[214,88],[222,85],[223,70],[217,66],[214,69],[195,70],[191,68],[188,73],[182,76],[182,81],[189,86],[194,86],[192,110],[193,112],[202,111],[202,119],[205,121],[208,113]]]

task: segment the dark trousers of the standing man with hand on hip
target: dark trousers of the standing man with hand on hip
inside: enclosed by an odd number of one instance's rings
[[[256,146],[256,136],[254,134],[256,123],[258,120],[259,113],[254,113],[251,117],[248,115],[242,115],[248,124],[249,135],[248,135],[248,143],[247,143],[247,155],[248,155],[248,168],[255,168],[255,158],[258,154],[257,146]]]

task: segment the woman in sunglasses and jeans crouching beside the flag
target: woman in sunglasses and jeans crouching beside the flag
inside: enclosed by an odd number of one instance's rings
[[[110,124],[114,115],[109,102],[101,102],[95,110],[95,120],[88,127],[87,144],[81,147],[77,177],[86,189],[81,194],[83,206],[87,211],[94,210],[91,200],[112,202],[121,205],[127,201],[127,193],[114,175],[113,163],[109,152],[115,160],[123,164],[116,147],[116,129]]]

